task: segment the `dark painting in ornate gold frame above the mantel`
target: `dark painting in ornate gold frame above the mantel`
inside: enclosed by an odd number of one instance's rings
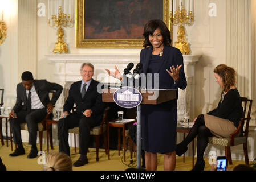
[[[143,48],[151,19],[169,24],[169,0],[76,0],[76,48]],[[171,35],[172,37],[172,35]]]

